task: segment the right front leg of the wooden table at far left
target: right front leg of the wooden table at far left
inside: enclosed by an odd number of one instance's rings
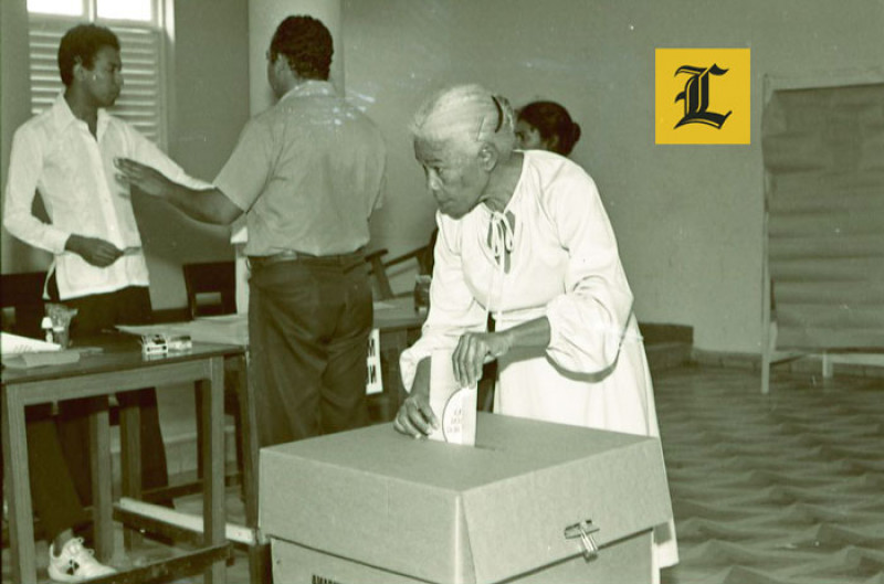
[[[204,545],[225,543],[224,534],[224,359],[209,360],[209,379],[199,381],[202,392],[203,448],[202,520]],[[223,584],[227,565],[214,562],[206,571],[206,584]]]

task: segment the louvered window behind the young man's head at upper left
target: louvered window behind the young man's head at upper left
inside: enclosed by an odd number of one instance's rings
[[[83,22],[107,26],[119,38],[123,93],[108,112],[166,145],[165,39],[157,0],[28,0],[31,109],[50,107],[63,91],[59,43]]]

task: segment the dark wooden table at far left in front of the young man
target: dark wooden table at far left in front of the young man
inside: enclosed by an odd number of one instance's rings
[[[116,336],[114,336],[116,337]],[[75,397],[108,396],[117,392],[155,386],[158,391],[180,383],[194,383],[202,395],[204,428],[203,466],[210,469],[203,480],[203,546],[178,570],[190,573],[204,567],[207,583],[223,583],[225,560],[230,553],[224,535],[224,446],[223,391],[224,360],[242,359],[238,346],[194,343],[193,349],[161,358],[144,358],[134,338],[116,339],[99,354],[84,354],[76,363],[32,369],[4,369],[2,372],[2,438],[6,487],[9,500],[9,533],[12,578],[21,584],[36,582],[33,510],[28,468],[28,440],[24,408],[28,405]],[[140,497],[140,413],[137,407],[120,410],[123,496]],[[93,519],[97,558],[113,556],[113,503],[107,408],[90,416],[93,453]],[[144,580],[156,577],[156,571],[140,569]],[[138,572],[138,571],[135,571]],[[126,582],[138,582],[133,572]],[[119,581],[102,578],[101,581]]]

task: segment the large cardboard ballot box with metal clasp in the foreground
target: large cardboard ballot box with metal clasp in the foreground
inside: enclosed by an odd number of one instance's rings
[[[476,426],[474,447],[385,424],[262,449],[274,582],[651,582],[651,529],[672,517],[659,440]]]

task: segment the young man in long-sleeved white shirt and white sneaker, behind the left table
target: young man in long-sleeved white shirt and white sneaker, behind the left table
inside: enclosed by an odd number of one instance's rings
[[[150,320],[147,263],[129,199],[115,179],[113,160],[141,160],[177,180],[190,179],[151,141],[105,108],[123,88],[119,40],[108,29],[82,24],[59,46],[64,91],[53,105],[23,124],[12,141],[3,225],[24,243],[54,254],[48,299],[77,314],[71,339],[84,339]],[[32,214],[35,192],[49,214]],[[117,395],[122,406],[141,408],[144,488],[168,484],[166,453],[154,389]],[[84,506],[92,495],[86,414],[95,401],[71,400],[28,411],[29,464],[34,509],[50,537],[49,574],[81,582],[113,573],[74,537],[88,527]]]

